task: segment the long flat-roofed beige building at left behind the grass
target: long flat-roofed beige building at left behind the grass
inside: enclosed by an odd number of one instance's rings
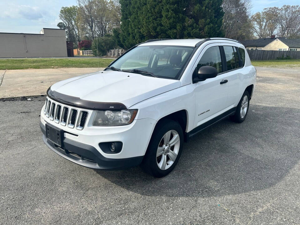
[[[43,28],[38,34],[0,33],[0,58],[66,57],[65,30]]]

